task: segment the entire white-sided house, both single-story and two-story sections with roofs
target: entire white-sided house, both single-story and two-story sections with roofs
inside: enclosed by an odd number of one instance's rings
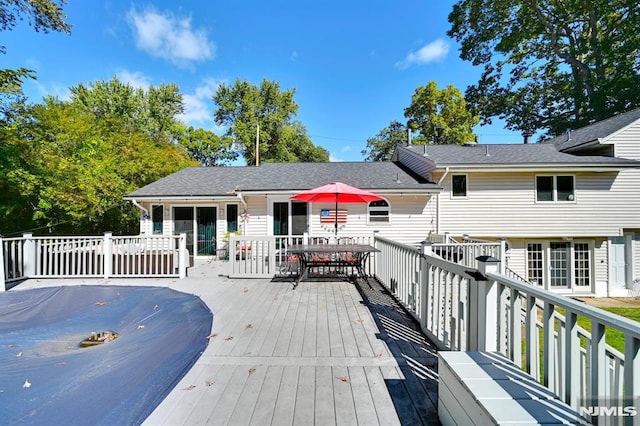
[[[640,109],[539,144],[399,146],[389,162],[187,168],[125,198],[143,212],[141,233],[187,232],[191,253],[211,256],[227,232],[332,235],[323,218],[335,206],[290,200],[331,181],[384,198],[339,206],[343,235],[503,238],[509,269],[572,295],[627,296],[640,277]]]

